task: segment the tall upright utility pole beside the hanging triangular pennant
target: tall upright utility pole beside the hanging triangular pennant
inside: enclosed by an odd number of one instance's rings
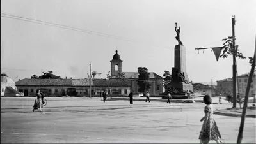
[[[235,43],[235,16],[232,18],[232,38],[233,38],[233,108],[236,108],[236,43]]]

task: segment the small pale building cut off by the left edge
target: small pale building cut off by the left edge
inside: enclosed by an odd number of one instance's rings
[[[1,96],[20,96],[15,82],[4,73],[1,74]]]

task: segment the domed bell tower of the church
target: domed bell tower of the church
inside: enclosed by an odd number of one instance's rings
[[[110,61],[111,62],[111,71],[110,75],[111,76],[119,76],[118,73],[122,73],[122,60],[120,59],[120,55],[116,54],[113,56],[113,59]]]

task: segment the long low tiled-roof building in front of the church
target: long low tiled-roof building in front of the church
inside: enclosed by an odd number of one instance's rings
[[[35,96],[40,89],[47,96],[88,96],[90,92],[89,79],[29,79],[17,81],[15,84],[24,96]],[[127,80],[104,80],[92,78],[91,94],[100,95],[106,90],[110,95],[128,95],[130,85]]]

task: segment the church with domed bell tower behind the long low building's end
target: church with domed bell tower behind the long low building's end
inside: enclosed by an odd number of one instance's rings
[[[118,54],[116,50],[116,54],[113,55],[113,59],[111,62],[111,77],[119,77],[120,73],[124,74],[124,79],[131,82],[131,90],[138,94],[138,72],[122,72],[122,60],[120,59],[120,55]],[[151,95],[158,95],[160,93],[163,93],[164,87],[163,87],[163,80],[164,78],[157,75],[154,72],[148,72],[150,73],[148,82],[150,83],[151,87],[148,90],[148,92]]]

